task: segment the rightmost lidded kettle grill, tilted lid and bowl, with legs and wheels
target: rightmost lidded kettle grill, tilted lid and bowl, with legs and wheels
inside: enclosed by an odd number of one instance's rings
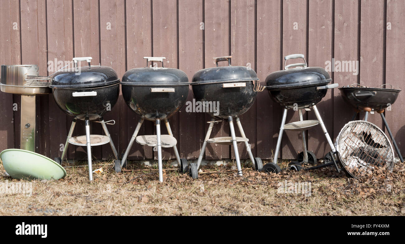
[[[295,58],[302,58],[305,63],[286,65],[287,60]],[[328,89],[336,88],[339,84],[328,85],[332,81],[328,72],[320,67],[307,67],[307,61],[305,61],[303,54],[291,54],[284,57],[284,60],[286,60],[284,70],[273,72],[266,78],[266,90],[268,90],[269,95],[276,103],[284,107],[273,163],[267,163],[263,166],[263,170],[266,172],[279,173],[281,171],[277,165],[277,156],[284,130],[301,131],[302,136],[303,152],[298,154],[297,162],[292,162],[290,165],[316,164],[315,154],[307,150],[304,131],[318,124],[325,134],[332,153],[335,154],[336,152],[316,104],[322,100]],[[302,110],[310,111],[311,108],[318,120],[303,120]],[[298,110],[300,121],[285,124],[288,109]],[[335,166],[337,167],[336,163]]]

